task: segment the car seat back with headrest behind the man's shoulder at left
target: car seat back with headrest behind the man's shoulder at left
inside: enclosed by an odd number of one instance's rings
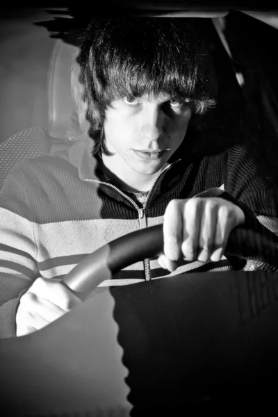
[[[16,163],[48,154],[50,150],[72,145],[68,131],[72,124],[74,104],[70,88],[70,67],[79,51],[83,31],[70,33],[57,40],[48,74],[48,129],[33,126],[11,136],[0,144],[0,188]]]

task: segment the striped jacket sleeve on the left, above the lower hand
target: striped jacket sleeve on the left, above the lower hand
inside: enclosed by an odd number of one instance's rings
[[[16,335],[19,298],[39,276],[26,188],[13,170],[0,190],[0,338]]]

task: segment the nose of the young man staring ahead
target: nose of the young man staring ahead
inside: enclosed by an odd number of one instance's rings
[[[157,142],[165,130],[165,115],[158,106],[146,106],[142,112],[142,139],[147,142]],[[156,145],[154,145],[156,146]]]

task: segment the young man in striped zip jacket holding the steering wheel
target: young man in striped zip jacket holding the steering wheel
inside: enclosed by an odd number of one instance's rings
[[[229,270],[223,254],[234,227],[259,220],[277,231],[268,179],[242,144],[227,136],[217,143],[220,94],[196,24],[102,19],[89,26],[72,68],[83,140],[19,163],[0,193],[1,337],[33,332],[79,304],[60,279],[131,231],[163,222],[164,255],[104,285]]]

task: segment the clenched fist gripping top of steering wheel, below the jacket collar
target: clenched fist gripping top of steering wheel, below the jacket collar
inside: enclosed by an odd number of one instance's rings
[[[173,271],[177,261],[220,261],[234,227],[245,222],[242,209],[220,197],[173,199],[166,207],[164,254],[158,262]]]

